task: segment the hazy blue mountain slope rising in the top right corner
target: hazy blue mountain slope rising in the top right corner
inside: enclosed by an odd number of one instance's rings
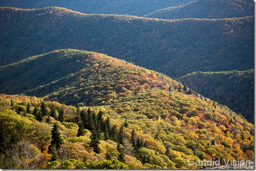
[[[185,5],[167,7],[144,17],[162,19],[180,18],[232,18],[254,15],[251,0],[196,0]]]

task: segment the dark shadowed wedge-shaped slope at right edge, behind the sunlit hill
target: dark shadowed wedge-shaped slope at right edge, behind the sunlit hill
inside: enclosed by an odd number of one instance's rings
[[[194,72],[178,80],[254,121],[254,70]]]

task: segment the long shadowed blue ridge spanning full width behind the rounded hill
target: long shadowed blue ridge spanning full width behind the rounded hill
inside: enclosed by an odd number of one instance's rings
[[[254,18],[157,20],[86,15],[64,8],[1,8],[0,63],[56,49],[111,55],[172,78],[252,69]]]

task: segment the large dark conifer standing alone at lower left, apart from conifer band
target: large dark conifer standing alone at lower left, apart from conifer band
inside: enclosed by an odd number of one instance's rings
[[[58,159],[57,151],[63,144],[63,138],[61,137],[58,127],[59,126],[57,124],[54,124],[51,130],[51,144],[48,152],[52,155],[52,161]]]

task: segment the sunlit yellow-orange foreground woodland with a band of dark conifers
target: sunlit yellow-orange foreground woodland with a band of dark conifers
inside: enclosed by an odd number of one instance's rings
[[[1,168],[189,168],[191,157],[253,160],[253,125],[184,91],[150,88],[95,107],[2,94]]]

